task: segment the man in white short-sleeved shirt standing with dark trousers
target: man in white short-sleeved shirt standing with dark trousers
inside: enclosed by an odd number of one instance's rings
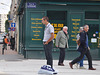
[[[47,60],[47,65],[53,67],[52,49],[53,49],[54,27],[49,23],[49,18],[47,16],[44,16],[42,18],[42,23],[45,25],[43,46]]]

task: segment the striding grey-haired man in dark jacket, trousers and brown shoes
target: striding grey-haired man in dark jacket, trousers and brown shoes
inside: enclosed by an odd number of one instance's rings
[[[77,57],[76,59],[74,59],[72,62],[69,63],[70,67],[73,69],[73,65],[77,62],[79,62],[80,60],[82,60],[82,58],[84,57],[84,55],[86,55],[87,59],[88,59],[88,63],[89,63],[89,70],[96,70],[95,68],[92,67],[92,57],[90,54],[90,49],[88,46],[88,30],[89,30],[89,26],[85,25],[84,26],[84,30],[83,32],[80,33],[80,46],[78,48],[78,51],[81,53],[79,57]]]

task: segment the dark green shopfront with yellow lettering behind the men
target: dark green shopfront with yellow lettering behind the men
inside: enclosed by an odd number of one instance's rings
[[[14,0],[12,0],[14,1]],[[14,4],[14,3],[13,3]],[[79,27],[88,24],[89,46],[93,59],[100,59],[100,2],[91,0],[17,0],[13,19],[16,22],[17,51],[25,58],[45,58],[43,50],[44,25],[43,16],[48,16],[54,26],[53,57],[58,59],[59,49],[55,47],[58,31],[68,26],[69,48],[66,49],[66,59],[78,56],[76,35]],[[12,15],[12,14],[11,14]],[[15,17],[14,17],[15,16]]]

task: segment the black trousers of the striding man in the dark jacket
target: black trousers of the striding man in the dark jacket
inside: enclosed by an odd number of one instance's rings
[[[80,56],[77,57],[76,59],[74,59],[71,64],[75,64],[77,62],[79,62],[80,60],[83,59],[84,55],[86,55],[87,59],[88,59],[88,64],[89,64],[89,68],[92,68],[92,57],[91,57],[91,54],[90,54],[90,51],[87,49],[85,51],[82,51]]]

